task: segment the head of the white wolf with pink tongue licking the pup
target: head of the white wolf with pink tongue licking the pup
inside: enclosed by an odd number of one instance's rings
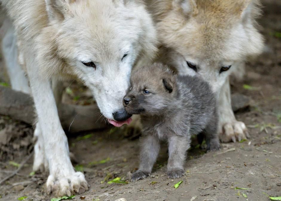
[[[43,70],[80,78],[106,118],[126,120],[122,98],[131,69],[156,51],[145,6],[139,0],[45,1],[49,26],[37,39]]]

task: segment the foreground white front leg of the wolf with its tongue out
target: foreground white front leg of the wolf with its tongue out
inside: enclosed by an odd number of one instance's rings
[[[67,137],[59,121],[51,83],[41,77],[36,66],[33,65],[35,65],[33,60],[27,62],[27,73],[50,171],[47,179],[47,194],[55,192],[58,196],[70,196],[74,192],[85,191],[88,185],[84,175],[75,172],[70,162]]]

